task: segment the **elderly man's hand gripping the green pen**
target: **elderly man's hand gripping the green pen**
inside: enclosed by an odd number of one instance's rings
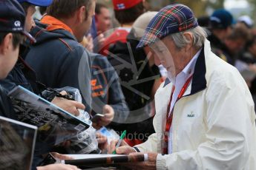
[[[108,154],[112,154],[114,150],[116,150],[116,154],[131,154],[133,152],[136,152],[135,149],[129,146],[124,140],[122,140],[122,143],[118,148],[116,148],[116,143],[118,143],[118,140],[111,141],[111,146]]]

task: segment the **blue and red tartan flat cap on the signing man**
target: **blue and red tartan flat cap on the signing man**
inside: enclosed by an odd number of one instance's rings
[[[197,27],[197,18],[189,7],[183,4],[171,4],[163,7],[150,21],[137,48],[153,44],[173,33]]]

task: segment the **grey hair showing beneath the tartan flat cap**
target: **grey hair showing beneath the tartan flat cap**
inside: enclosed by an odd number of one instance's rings
[[[186,30],[184,32],[180,33],[174,33],[171,34],[170,37],[174,41],[174,44],[176,45],[177,49],[182,49],[186,46],[186,44],[189,43],[188,39],[183,35],[183,33],[190,32],[193,35],[193,44],[192,46],[196,49],[199,49],[203,46],[204,41],[206,40],[207,33],[206,29],[203,27],[197,26],[195,28]]]

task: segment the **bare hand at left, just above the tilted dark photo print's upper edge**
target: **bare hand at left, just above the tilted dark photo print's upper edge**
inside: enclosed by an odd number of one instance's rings
[[[67,92],[60,92],[62,95],[67,95]],[[77,101],[70,101],[65,98],[53,98],[53,101],[51,103],[55,104],[56,106],[59,106],[60,108],[64,109],[67,112],[70,112],[72,115],[78,116],[79,111],[78,109],[85,109],[85,105],[82,103],[79,103]]]

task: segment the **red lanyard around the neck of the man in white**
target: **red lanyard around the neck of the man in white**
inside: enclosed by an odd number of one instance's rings
[[[188,88],[188,85],[192,79],[193,75],[191,75],[188,80],[186,81],[186,83],[184,84],[183,88],[180,90],[180,94],[178,95],[177,100],[175,101],[175,103],[177,101],[180,100],[180,98],[183,97],[184,93],[186,92],[186,89]],[[168,154],[168,135],[171,129],[171,123],[172,123],[172,116],[173,116],[173,111],[174,108],[172,108],[171,110],[171,114],[169,114],[170,112],[170,107],[171,107],[171,101],[172,101],[172,95],[174,94],[174,89],[175,87],[173,86],[172,90],[171,90],[171,98],[170,98],[170,102],[168,103],[168,108],[167,108],[167,113],[166,113],[166,126],[165,126],[165,133],[164,133],[164,141],[163,141],[163,146],[162,146],[162,154]]]

